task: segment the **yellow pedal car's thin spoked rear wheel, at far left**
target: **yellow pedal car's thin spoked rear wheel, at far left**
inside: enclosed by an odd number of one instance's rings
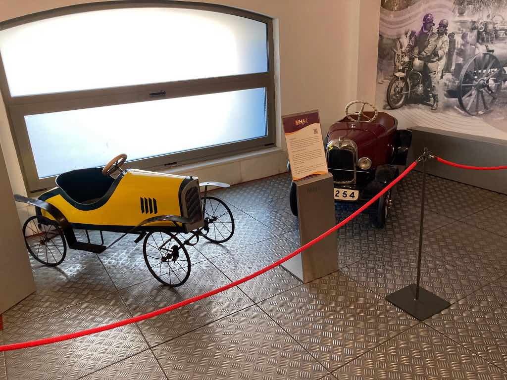
[[[57,221],[30,216],[23,224],[23,235],[26,248],[35,260],[56,267],[65,258],[67,244]]]

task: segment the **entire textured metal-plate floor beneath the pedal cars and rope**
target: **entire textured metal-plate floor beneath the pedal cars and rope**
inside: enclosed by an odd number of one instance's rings
[[[362,214],[338,232],[340,270],[301,284],[282,268],[157,318],[0,353],[0,379],[507,379],[507,196],[428,177],[422,285],[451,302],[419,322],[384,297],[414,282],[421,174],[399,186],[384,230]],[[38,290],[4,313],[0,344],[150,312],[254,272],[299,246],[288,174],[214,191],[234,237],[189,248],[176,289],[141,244],[32,261]],[[351,213],[336,208],[337,220]],[[114,234],[106,240],[113,241]],[[92,234],[92,239],[98,239]]]

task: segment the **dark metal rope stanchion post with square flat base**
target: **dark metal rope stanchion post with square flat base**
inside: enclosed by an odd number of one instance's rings
[[[422,258],[422,227],[424,223],[424,198],[426,187],[426,161],[430,157],[427,148],[421,156],[422,161],[422,192],[421,192],[421,221],[419,225],[419,254],[417,257],[417,284],[408,285],[385,297],[394,306],[409,313],[419,321],[424,321],[429,317],[447,309],[451,304],[445,299],[419,286],[421,279],[421,258]]]

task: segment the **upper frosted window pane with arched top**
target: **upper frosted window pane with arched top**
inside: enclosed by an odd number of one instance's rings
[[[11,96],[266,72],[266,24],[177,8],[107,9],[0,31]]]

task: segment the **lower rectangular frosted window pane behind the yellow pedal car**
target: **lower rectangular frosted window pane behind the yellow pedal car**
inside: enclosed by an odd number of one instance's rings
[[[264,88],[25,116],[39,178],[267,135]]]

